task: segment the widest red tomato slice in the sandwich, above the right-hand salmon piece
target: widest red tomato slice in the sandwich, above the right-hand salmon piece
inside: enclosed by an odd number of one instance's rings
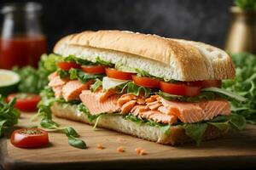
[[[160,90],[167,94],[195,96],[200,94],[201,87],[188,86],[184,83],[160,82]]]

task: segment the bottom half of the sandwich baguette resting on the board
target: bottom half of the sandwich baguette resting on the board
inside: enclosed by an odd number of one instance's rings
[[[51,106],[51,111],[55,116],[69,120],[84,122],[94,125],[95,122],[89,122],[87,116],[78,110],[77,105],[67,105],[55,103]],[[160,144],[184,144],[192,142],[180,126],[171,127],[171,133],[163,133],[159,127],[149,125],[138,125],[136,122],[125,120],[122,116],[102,116],[97,127],[104,127],[120,133],[130,134],[141,139],[157,142]],[[229,128],[219,130],[217,127],[208,126],[202,140],[217,139],[228,133]]]

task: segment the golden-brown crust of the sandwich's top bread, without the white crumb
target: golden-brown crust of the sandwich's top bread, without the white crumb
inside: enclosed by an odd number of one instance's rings
[[[201,48],[208,46],[201,42],[179,41],[131,31],[84,31],[63,37],[55,44],[54,52],[66,56],[70,54],[69,49],[73,49],[79,50],[83,55],[83,50],[96,48],[132,54],[168,65],[173,74],[166,78],[179,81],[235,77],[235,68],[230,56],[214,47],[212,49],[215,54],[207,53],[205,56],[201,53]],[[220,58],[216,58],[216,54]]]

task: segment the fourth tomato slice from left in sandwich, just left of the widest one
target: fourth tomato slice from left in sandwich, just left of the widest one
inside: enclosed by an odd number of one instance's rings
[[[132,75],[132,80],[138,86],[143,86],[146,88],[159,88],[160,87],[160,81],[155,78],[137,77],[136,75]]]

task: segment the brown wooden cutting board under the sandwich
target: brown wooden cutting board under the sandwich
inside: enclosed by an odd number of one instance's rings
[[[17,127],[31,127],[23,114]],[[243,132],[230,132],[222,139],[204,142],[200,147],[183,144],[177,147],[155,144],[106,129],[93,130],[89,125],[54,118],[61,125],[74,127],[88,148],[79,150],[67,144],[61,133],[49,133],[49,146],[41,149],[20,149],[1,140],[0,162],[4,169],[159,169],[159,168],[256,168],[256,126],[247,125]],[[98,150],[96,144],[105,149]],[[123,146],[124,153],[117,148]],[[146,155],[137,156],[142,148]]]

